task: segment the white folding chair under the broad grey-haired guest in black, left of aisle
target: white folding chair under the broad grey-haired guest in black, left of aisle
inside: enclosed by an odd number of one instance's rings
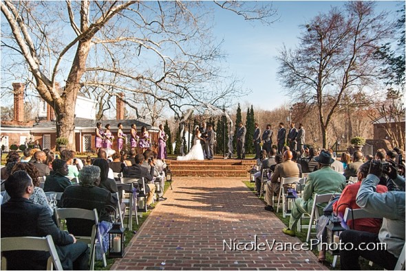
[[[58,208],[55,209],[55,217],[56,222],[58,222],[59,228],[63,230],[63,224],[65,224],[65,220],[70,218],[80,218],[83,220],[92,220],[94,224],[92,226],[92,235],[90,236],[75,236],[77,240],[84,241],[87,244],[90,244],[90,265],[89,270],[94,270],[94,260],[96,254],[96,238],[98,237],[98,214],[97,210],[87,210],[87,209],[78,209],[78,208]],[[68,228],[69,231],[69,228]],[[101,237],[99,238],[101,239]],[[100,244],[103,246],[103,244]],[[107,266],[106,255],[103,252],[103,264]]]

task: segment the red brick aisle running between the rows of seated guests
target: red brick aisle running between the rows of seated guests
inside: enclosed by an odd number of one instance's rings
[[[273,239],[300,242],[281,232],[284,224],[251,193],[246,178],[177,177],[168,200],[157,204],[111,270],[314,270],[326,269],[311,251],[231,251]],[[242,245],[242,246],[244,246]],[[223,247],[225,246],[226,251]],[[241,245],[240,245],[241,246]],[[277,246],[277,243],[275,243]]]

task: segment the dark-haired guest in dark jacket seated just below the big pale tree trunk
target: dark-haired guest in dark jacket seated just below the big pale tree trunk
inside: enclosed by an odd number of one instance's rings
[[[67,176],[67,163],[61,159],[52,162],[52,172],[47,176],[44,183],[45,192],[63,192],[71,185]]]

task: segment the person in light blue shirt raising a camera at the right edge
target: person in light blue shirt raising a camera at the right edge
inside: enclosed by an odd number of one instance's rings
[[[356,204],[369,213],[381,215],[383,223],[378,234],[354,230],[341,233],[341,242],[347,248],[340,250],[341,270],[360,270],[360,256],[386,270],[394,270],[405,245],[405,192],[376,192],[376,185],[383,173],[394,180],[400,189],[405,188],[405,179],[397,174],[392,165],[389,165],[389,169],[383,169],[381,161],[372,160],[370,163],[370,171],[356,194]],[[352,245],[347,246],[348,243]],[[370,246],[372,243],[373,246]]]

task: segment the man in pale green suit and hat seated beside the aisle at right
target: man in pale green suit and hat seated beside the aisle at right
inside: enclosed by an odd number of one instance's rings
[[[287,235],[295,236],[297,222],[299,222],[301,215],[312,212],[314,194],[339,194],[345,187],[345,177],[331,167],[334,159],[331,158],[329,152],[322,151],[319,156],[314,157],[314,160],[317,161],[319,170],[309,174],[302,198],[297,198],[293,204],[289,228],[283,230]],[[320,215],[326,204],[327,202],[317,205]]]

